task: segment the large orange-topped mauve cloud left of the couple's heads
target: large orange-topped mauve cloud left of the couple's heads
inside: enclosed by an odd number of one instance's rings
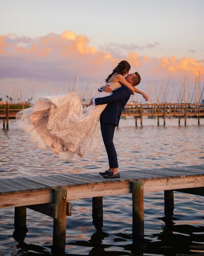
[[[23,77],[57,80],[82,77],[97,77],[106,74],[120,59],[110,52],[89,46],[85,35],[66,31],[61,35],[50,33],[37,38],[1,36],[1,77]],[[102,72],[103,73],[103,72]]]

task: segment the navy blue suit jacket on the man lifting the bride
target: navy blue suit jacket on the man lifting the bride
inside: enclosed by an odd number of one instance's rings
[[[101,113],[100,120],[105,123],[114,123],[118,126],[120,116],[124,106],[127,101],[130,99],[131,90],[122,86],[119,89],[113,91],[113,94],[103,98],[96,98],[96,105],[107,104],[106,109]]]

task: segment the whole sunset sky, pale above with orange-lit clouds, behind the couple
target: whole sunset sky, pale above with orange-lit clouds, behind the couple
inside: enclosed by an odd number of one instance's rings
[[[123,59],[140,90],[176,98],[188,81],[201,95],[203,9],[203,0],[0,0],[0,98],[62,94],[76,80],[95,93]]]

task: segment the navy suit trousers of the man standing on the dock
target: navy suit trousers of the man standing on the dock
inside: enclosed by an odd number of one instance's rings
[[[117,153],[113,144],[115,126],[116,124],[114,123],[106,123],[100,120],[100,130],[108,154],[110,168],[118,168]]]

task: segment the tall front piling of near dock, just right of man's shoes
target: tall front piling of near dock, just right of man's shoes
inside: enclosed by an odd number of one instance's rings
[[[132,182],[133,237],[144,236],[144,191],[142,182]]]

